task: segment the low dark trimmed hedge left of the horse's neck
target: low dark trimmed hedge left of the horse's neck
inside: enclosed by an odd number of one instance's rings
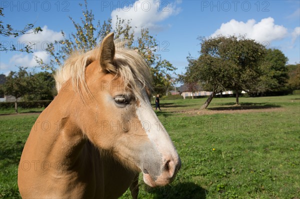
[[[47,107],[52,100],[18,102],[18,108],[42,108]],[[14,108],[14,102],[0,102],[0,109]]]

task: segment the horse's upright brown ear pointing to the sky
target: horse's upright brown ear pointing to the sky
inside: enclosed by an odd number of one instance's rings
[[[100,47],[100,66],[102,70],[107,72],[115,72],[116,68],[113,66],[113,57],[115,47],[113,42],[113,32],[109,33],[101,42]]]

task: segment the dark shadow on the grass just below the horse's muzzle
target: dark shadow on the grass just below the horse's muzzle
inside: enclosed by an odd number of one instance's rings
[[[153,194],[153,199],[206,199],[207,191],[202,187],[191,183],[179,183],[158,188],[146,188],[146,191]]]

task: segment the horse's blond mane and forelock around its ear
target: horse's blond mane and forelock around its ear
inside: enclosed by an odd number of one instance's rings
[[[89,93],[85,81],[85,68],[99,58],[100,46],[83,53],[73,52],[54,75],[57,91],[59,92],[65,86],[63,84],[70,79],[76,91],[82,93],[83,89]],[[113,65],[114,67],[108,68],[109,72],[120,77],[126,84],[135,85],[138,81],[147,92],[152,90],[152,76],[147,63],[135,50],[125,48],[124,42],[115,42]]]

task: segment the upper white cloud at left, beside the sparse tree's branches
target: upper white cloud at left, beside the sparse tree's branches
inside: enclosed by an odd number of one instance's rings
[[[48,29],[46,25],[44,25],[41,32],[36,34],[23,34],[18,37],[18,41],[22,46],[25,46],[29,43],[34,44],[32,46],[32,51],[44,50],[47,47],[47,44],[50,42],[54,42],[55,40],[63,39],[61,32],[55,32],[51,29]]]

